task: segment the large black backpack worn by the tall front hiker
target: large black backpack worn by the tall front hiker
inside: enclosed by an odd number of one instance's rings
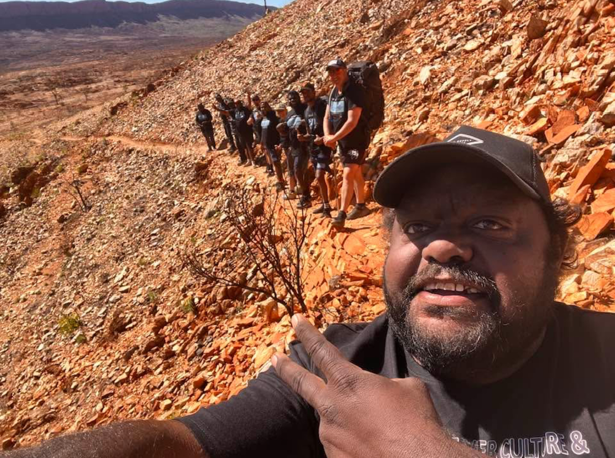
[[[369,60],[352,62],[348,65],[348,76],[365,89],[365,119],[370,131],[376,131],[384,121],[384,92],[378,66]]]

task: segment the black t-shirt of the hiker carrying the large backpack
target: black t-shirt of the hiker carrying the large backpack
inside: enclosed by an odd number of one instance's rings
[[[329,121],[333,132],[338,132],[348,120],[348,111],[356,107],[365,107],[365,90],[351,79],[348,80],[343,92],[339,94],[338,88],[334,87],[330,95]],[[365,150],[370,144],[370,132],[367,127],[367,113],[361,111],[359,123],[350,134],[339,140],[342,150]]]

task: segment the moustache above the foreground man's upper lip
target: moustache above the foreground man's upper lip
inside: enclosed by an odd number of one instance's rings
[[[426,281],[438,275],[448,276],[453,283],[470,283],[480,287],[485,291],[490,300],[500,299],[500,294],[496,282],[490,276],[482,274],[472,267],[464,264],[442,265],[437,262],[430,262],[423,270],[410,278],[408,284],[403,289],[404,299],[411,300],[419,289],[424,286]]]

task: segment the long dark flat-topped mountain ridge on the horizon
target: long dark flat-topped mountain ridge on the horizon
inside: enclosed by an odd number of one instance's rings
[[[274,9],[274,8],[271,8]],[[84,0],[79,2],[0,2],[0,31],[117,27],[124,22],[145,24],[159,16],[181,20],[263,15],[264,7],[229,0],[169,0],[161,3]]]

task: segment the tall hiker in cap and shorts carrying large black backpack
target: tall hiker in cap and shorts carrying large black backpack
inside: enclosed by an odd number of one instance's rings
[[[327,72],[334,87],[325,113],[324,143],[330,148],[338,144],[344,166],[341,204],[332,224],[344,227],[346,219],[370,214],[370,209],[365,206],[362,166],[371,132],[382,122],[384,100],[378,68],[371,62],[359,62],[349,67],[337,58],[328,63]],[[373,81],[373,76],[378,82]],[[347,214],[353,192],[357,203]]]

